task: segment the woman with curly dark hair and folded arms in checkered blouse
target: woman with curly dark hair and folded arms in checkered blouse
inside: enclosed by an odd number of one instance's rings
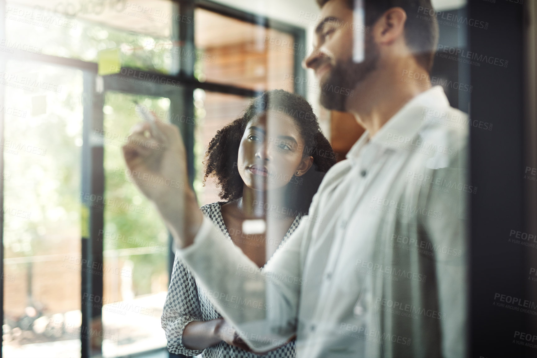
[[[240,118],[216,133],[206,158],[205,179],[217,179],[224,201],[201,210],[258,267],[286,245],[308,213],[324,173],[336,163],[310,104],[284,90],[253,99]],[[259,218],[266,220],[264,233],[243,230],[243,223]],[[209,301],[214,294],[200,288],[176,256],[162,313],[169,351],[207,358],[259,357],[214,309]],[[250,304],[236,301],[230,298],[237,309]],[[294,341],[264,356],[294,357]]]

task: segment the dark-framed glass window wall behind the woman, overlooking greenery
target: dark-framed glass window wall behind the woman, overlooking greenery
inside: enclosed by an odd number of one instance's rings
[[[260,91],[294,91],[296,55],[267,39],[303,40],[202,3],[5,3],[2,356],[165,352],[172,247],[121,146],[140,112],[183,126],[199,203],[219,200],[209,141]]]

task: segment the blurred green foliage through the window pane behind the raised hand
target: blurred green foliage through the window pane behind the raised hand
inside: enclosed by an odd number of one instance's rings
[[[119,92],[105,94],[104,196],[106,202],[119,205],[105,207],[104,231],[110,239],[104,238],[104,250],[132,247],[151,249],[149,254],[129,255],[129,259],[134,262],[134,291],[136,295],[140,295],[151,293],[153,275],[168,272],[168,231],[153,204],[126,176],[121,145],[126,143],[130,127],[140,121],[139,114],[134,108],[134,101],[144,108],[161,114],[168,113],[170,100]],[[134,206],[129,210],[122,208],[121,203]],[[147,210],[149,213],[146,215]]]

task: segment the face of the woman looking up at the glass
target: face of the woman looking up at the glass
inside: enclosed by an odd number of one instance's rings
[[[313,157],[302,158],[304,140],[295,120],[267,111],[246,125],[238,148],[237,167],[246,186],[256,190],[284,187],[306,173]],[[298,174],[297,174],[298,172]]]

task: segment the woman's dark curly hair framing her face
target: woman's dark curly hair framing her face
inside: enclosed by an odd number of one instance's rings
[[[286,186],[289,207],[306,214],[324,173],[336,164],[336,155],[323,135],[311,105],[298,94],[272,90],[252,99],[240,118],[217,131],[209,143],[204,179],[209,176],[216,178],[221,199],[232,201],[241,198],[244,182],[238,173],[237,159],[244,130],[255,115],[271,109],[294,120],[304,140],[302,157],[313,157],[313,165],[308,172],[289,181]]]

